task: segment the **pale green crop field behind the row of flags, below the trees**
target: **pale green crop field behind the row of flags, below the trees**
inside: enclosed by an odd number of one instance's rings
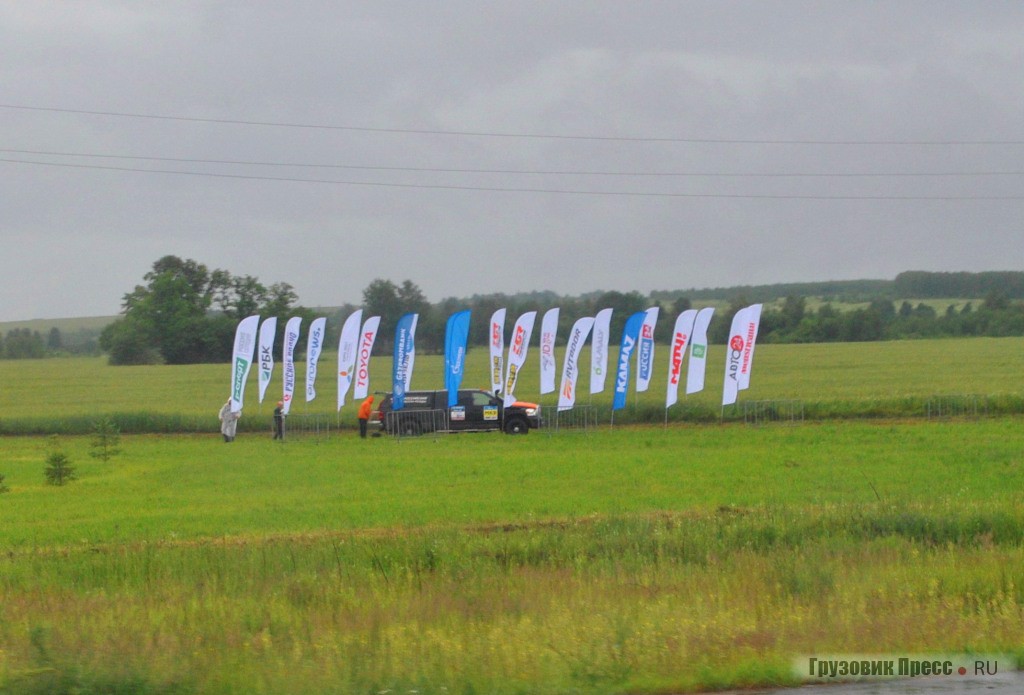
[[[611,365],[616,354],[612,351]],[[559,348],[559,364],[562,355]],[[631,393],[629,405],[617,415],[617,421],[663,421],[668,356],[668,348],[657,346],[650,389]],[[581,364],[589,364],[589,359],[590,353],[585,350]],[[711,346],[705,390],[691,396],[681,394],[679,404],[670,411],[673,418],[683,418],[693,410],[702,419],[719,416],[724,360],[724,348]],[[336,361],[334,353],[321,358],[317,397],[312,402],[305,402],[304,386],[298,385],[293,416],[338,419]],[[469,352],[464,387],[486,388],[486,362],[485,350]],[[371,388],[390,390],[390,371],[389,356],[374,357]],[[299,363],[298,372],[304,374],[303,363]],[[914,416],[923,414],[923,400],[927,398],[971,394],[992,398],[996,404],[1002,402],[1008,411],[1020,412],[1024,411],[1022,374],[1021,338],[761,345],[755,355],[751,388],[742,392],[740,400],[795,399],[803,401],[811,415],[828,417]],[[255,371],[250,374],[243,428],[269,428],[273,403],[281,397],[281,375],[278,364],[260,404]],[[439,355],[420,355],[413,387],[443,388],[442,375]],[[604,393],[593,398],[588,379],[585,376],[581,380],[578,403],[609,407],[611,376]],[[126,432],[215,431],[217,410],[227,397],[229,381],[226,363],[113,367],[98,357],[0,360],[0,433],[87,432],[90,424],[103,415],[120,415]],[[553,406],[556,394],[542,397],[539,382],[535,355],[521,372],[517,395]],[[341,422],[354,423],[356,405],[349,394]]]

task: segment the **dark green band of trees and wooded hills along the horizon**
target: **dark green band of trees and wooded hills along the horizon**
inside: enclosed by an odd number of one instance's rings
[[[506,331],[526,311],[558,307],[559,337],[572,322],[600,309],[614,310],[611,335],[622,334],[630,314],[650,306],[660,308],[655,339],[667,341],[676,315],[689,308],[715,306],[710,328],[713,343],[727,338],[732,315],[741,307],[765,305],[759,340],[766,343],[824,343],[940,338],[955,336],[1024,336],[1024,272],[907,271],[893,280],[844,280],[743,286],[712,290],[651,293],[593,292],[575,297],[553,292],[515,295],[473,295],[430,302],[412,280],[373,280],[361,304],[330,309],[299,305],[291,285],[263,285],[258,278],[211,270],[194,260],[166,256],[154,263],[123,299],[121,317],[97,336],[69,340],[58,329],[47,335],[28,329],[0,337],[0,357],[33,358],[104,351],[114,364],[225,361],[239,319],[258,313],[278,316],[279,325],[300,316],[304,325],[326,316],[326,344],[337,344],[341,325],[356,308],[366,316],[380,315],[375,352],[391,350],[394,324],[406,312],[420,314],[417,348],[437,352],[444,343],[444,324],[456,311],[470,309],[471,345],[486,345],[488,319],[506,308]],[[540,320],[540,317],[538,318]],[[281,330],[279,328],[279,334]],[[281,337],[276,352],[280,354]],[[296,355],[301,359],[300,342]]]

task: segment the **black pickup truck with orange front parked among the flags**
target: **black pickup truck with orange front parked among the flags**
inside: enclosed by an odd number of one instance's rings
[[[449,407],[447,391],[409,391],[400,410],[391,408],[392,395],[381,399],[370,424],[387,434],[416,435],[425,432],[487,432],[526,434],[541,427],[541,406],[504,401],[480,390],[460,390],[458,402]]]

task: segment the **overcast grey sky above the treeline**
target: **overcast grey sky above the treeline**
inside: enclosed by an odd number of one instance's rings
[[[1016,0],[11,0],[0,76],[0,320],[1024,269]]]

